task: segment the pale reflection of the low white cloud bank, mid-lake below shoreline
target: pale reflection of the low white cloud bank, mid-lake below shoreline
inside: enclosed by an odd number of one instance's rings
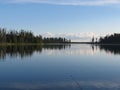
[[[99,50],[93,50],[90,45],[82,45],[82,44],[71,44],[69,48],[65,48],[60,50],[44,50],[44,53],[47,55],[94,55],[95,53],[99,52]]]

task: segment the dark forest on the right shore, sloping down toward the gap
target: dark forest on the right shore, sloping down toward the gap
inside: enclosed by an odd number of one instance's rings
[[[99,39],[100,44],[120,44],[120,34],[114,33],[112,35],[107,35]]]

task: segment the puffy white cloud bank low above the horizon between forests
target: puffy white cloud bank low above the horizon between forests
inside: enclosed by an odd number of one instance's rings
[[[85,41],[90,41],[92,37],[98,37],[93,32],[83,32],[83,33],[50,33],[47,32],[43,34],[43,37],[65,37],[67,39],[71,39],[72,41],[80,41],[80,42],[85,42]]]

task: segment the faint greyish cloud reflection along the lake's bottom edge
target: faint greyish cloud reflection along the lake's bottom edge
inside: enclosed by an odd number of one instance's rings
[[[4,90],[116,90],[120,89],[120,82],[112,81],[74,81],[37,82],[37,83],[1,83],[0,89]]]

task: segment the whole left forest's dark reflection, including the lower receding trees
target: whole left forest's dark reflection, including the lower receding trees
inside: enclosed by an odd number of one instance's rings
[[[62,50],[67,47],[70,47],[70,44],[64,45],[8,45],[0,46],[0,59],[4,60],[6,56],[10,57],[29,57],[32,56],[34,52],[42,52],[42,49],[55,49]]]

